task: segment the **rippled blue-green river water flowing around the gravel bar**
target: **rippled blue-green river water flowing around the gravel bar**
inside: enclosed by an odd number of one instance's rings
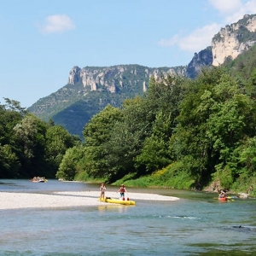
[[[50,194],[84,190],[99,191],[99,187],[56,180],[0,180],[0,191]],[[128,191],[173,195],[180,200],[137,201],[136,206],[1,210],[0,255],[256,254],[253,199],[219,202],[214,194],[185,190]]]

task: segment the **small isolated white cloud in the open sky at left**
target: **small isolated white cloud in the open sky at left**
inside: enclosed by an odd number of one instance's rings
[[[40,30],[44,33],[65,32],[74,29],[73,21],[67,15],[51,15],[45,18]]]

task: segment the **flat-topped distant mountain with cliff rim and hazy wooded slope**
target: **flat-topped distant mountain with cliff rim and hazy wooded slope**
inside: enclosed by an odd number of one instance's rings
[[[167,73],[185,75],[186,67],[73,67],[67,85],[38,100],[28,110],[46,121],[53,119],[72,134],[81,136],[93,114],[108,104],[119,107],[127,98],[142,96],[151,76],[160,79]]]

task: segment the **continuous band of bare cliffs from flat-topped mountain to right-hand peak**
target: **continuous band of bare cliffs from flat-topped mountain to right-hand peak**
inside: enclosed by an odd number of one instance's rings
[[[88,91],[105,90],[111,93],[137,90],[140,94],[147,90],[150,77],[158,81],[162,75],[177,74],[195,79],[202,67],[218,66],[227,58],[234,60],[253,44],[256,44],[256,15],[245,15],[237,23],[222,28],[212,38],[212,46],[195,53],[187,67],[149,68],[139,65],[73,67],[67,84],[82,84],[83,89],[79,90],[79,93],[84,95]]]

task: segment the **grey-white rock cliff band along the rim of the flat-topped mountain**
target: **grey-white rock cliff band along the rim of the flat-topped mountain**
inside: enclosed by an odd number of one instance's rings
[[[67,84],[83,84],[84,94],[88,90],[108,90],[116,93],[125,88],[139,86],[146,91],[151,76],[160,80],[167,74],[185,75],[185,67],[150,68],[139,65],[119,65],[113,67],[73,67]]]

